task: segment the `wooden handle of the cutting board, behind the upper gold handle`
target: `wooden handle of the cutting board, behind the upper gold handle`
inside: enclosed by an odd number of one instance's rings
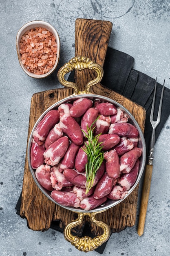
[[[103,67],[112,25],[112,22],[106,20],[76,19],[75,56],[87,56]],[[79,90],[84,91],[86,84],[95,76],[93,70],[75,70],[75,83]]]

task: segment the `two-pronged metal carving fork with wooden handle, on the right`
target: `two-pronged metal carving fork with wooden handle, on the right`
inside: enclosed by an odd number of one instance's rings
[[[140,213],[139,213],[139,223],[138,223],[138,229],[137,233],[139,236],[141,236],[144,233],[144,226],[145,226],[145,219],[146,219],[146,211],[148,206],[148,199],[149,199],[149,192],[150,192],[150,183],[151,183],[151,177],[152,177],[152,168],[153,168],[153,149],[155,145],[155,128],[159,124],[161,120],[161,108],[162,108],[162,100],[163,100],[163,90],[165,85],[165,79],[163,82],[163,88],[161,92],[161,99],[159,102],[159,110],[157,115],[157,121],[153,120],[153,114],[154,114],[154,107],[155,107],[155,96],[156,96],[156,89],[157,89],[157,79],[155,81],[155,91],[152,101],[152,108],[150,112],[150,123],[152,124],[152,135],[150,140],[150,150],[149,155],[147,157],[146,162],[146,169],[145,169],[145,177],[144,177],[144,184],[142,187],[142,195],[141,195],[141,206],[140,206]]]

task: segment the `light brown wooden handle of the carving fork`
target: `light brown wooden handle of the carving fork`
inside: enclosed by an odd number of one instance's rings
[[[142,195],[141,195],[139,223],[138,223],[138,229],[137,229],[137,233],[139,236],[141,236],[144,233],[146,212],[147,212],[149,192],[150,192],[150,183],[152,178],[152,168],[153,168],[152,165],[146,164],[145,177],[144,177],[144,183],[143,183]]]

